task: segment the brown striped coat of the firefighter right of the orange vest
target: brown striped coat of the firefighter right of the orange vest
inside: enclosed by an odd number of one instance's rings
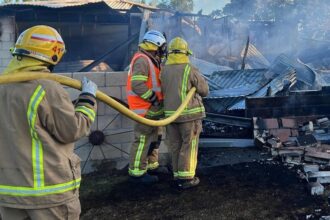
[[[164,94],[164,112],[169,117],[179,108],[192,87],[196,94],[175,122],[186,122],[205,117],[201,97],[208,95],[209,87],[198,69],[191,64],[165,65],[161,72],[162,91]]]

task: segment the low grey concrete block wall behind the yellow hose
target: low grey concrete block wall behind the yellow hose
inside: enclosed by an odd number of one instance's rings
[[[61,75],[77,80],[81,80],[86,76],[94,81],[102,92],[127,102],[127,72],[61,73]],[[78,90],[71,88],[66,89],[72,100],[76,99],[80,94]],[[93,124],[92,131],[104,130],[104,133],[107,135],[107,143],[93,148],[91,144],[88,144],[87,137],[82,138],[76,143],[76,148],[79,148],[76,150],[76,153],[80,156],[82,165],[84,165],[84,162],[90,154],[90,162],[87,163],[84,172],[92,171],[95,164],[103,159],[118,161],[118,163],[121,164],[120,166],[125,166],[128,163],[128,154],[126,153],[130,152],[134,137],[134,133],[132,132],[133,125],[134,122],[131,119],[119,114],[116,110],[106,106],[104,103],[98,102],[97,118]],[[163,142],[160,147],[160,153],[164,161],[168,160],[167,152],[167,146]],[[122,167],[117,166],[117,168]]]

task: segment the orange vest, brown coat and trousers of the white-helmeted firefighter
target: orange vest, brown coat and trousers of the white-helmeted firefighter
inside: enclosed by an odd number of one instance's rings
[[[129,108],[140,116],[158,119],[163,115],[162,106],[153,106],[150,102],[153,93],[160,102],[163,100],[159,74],[159,62],[140,49],[131,61],[126,87]],[[157,127],[135,124],[130,152],[131,176],[142,176],[148,168],[156,169],[159,166],[158,142]]]

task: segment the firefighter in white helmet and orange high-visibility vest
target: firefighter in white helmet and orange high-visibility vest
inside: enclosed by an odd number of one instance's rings
[[[139,44],[128,73],[127,100],[129,108],[142,117],[159,119],[163,116],[159,74],[161,60],[166,54],[166,38],[158,31],[148,31]],[[130,151],[129,175],[135,183],[152,184],[158,181],[147,171],[156,170],[161,136],[158,128],[134,125],[134,142]]]

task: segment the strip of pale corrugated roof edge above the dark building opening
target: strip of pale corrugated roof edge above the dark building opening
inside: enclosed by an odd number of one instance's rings
[[[125,0],[48,0],[48,1],[35,1],[35,2],[22,2],[22,3],[7,3],[0,4],[1,7],[8,6],[41,6],[48,8],[65,8],[65,7],[77,7],[83,6],[87,4],[95,4],[104,2],[110,8],[114,10],[130,10],[132,7],[141,7],[145,9],[155,10],[156,7],[152,7],[150,5],[136,3],[133,1],[125,1]]]

